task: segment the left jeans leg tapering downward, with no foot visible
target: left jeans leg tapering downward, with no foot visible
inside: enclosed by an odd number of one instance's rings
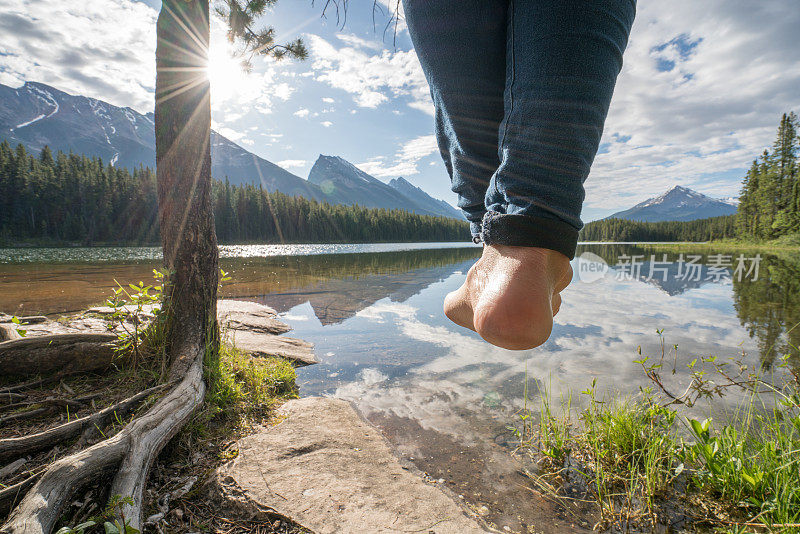
[[[404,0],[428,79],[439,144],[458,206],[478,236],[489,180],[500,165],[508,0]]]

